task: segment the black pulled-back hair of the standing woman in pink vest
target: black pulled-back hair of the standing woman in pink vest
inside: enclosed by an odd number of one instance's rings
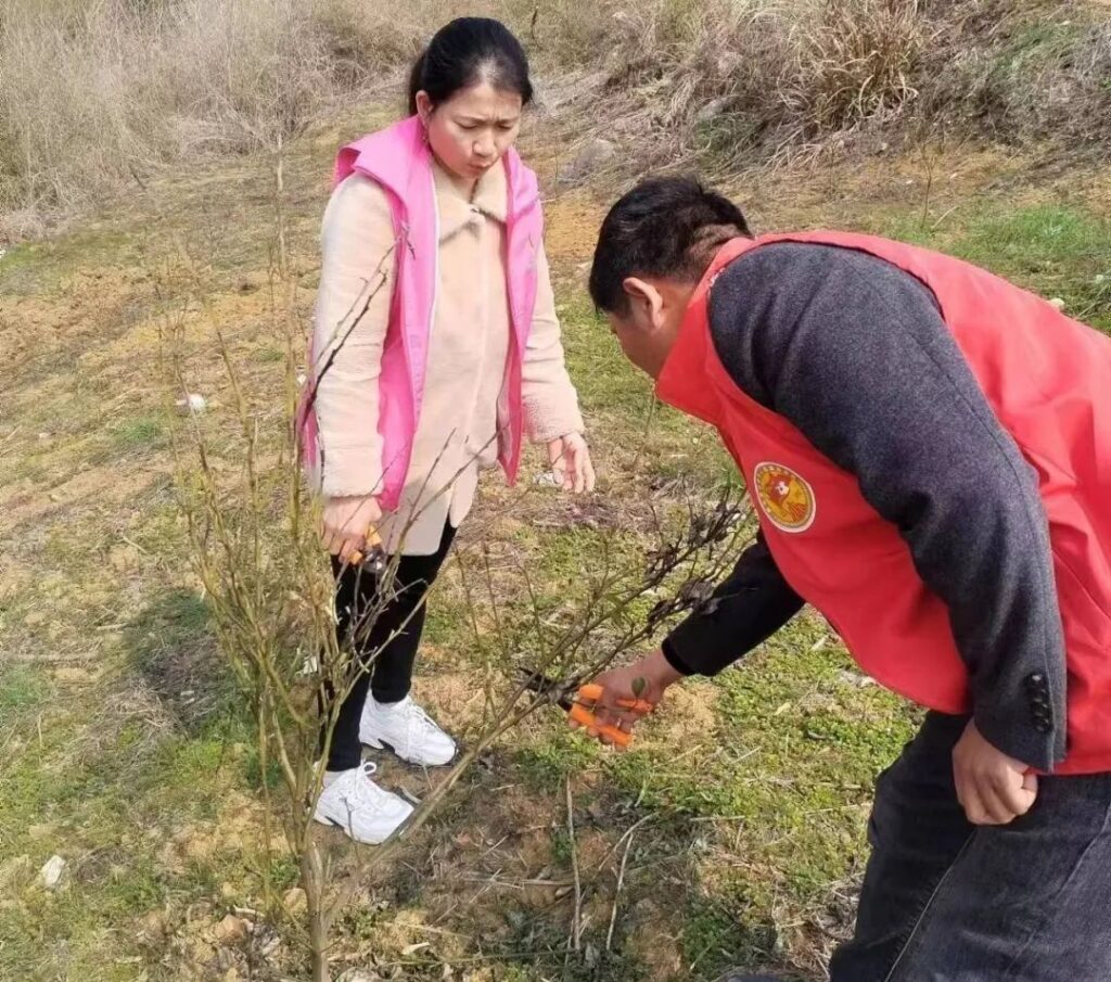
[[[532,100],[529,59],[521,42],[500,20],[460,17],[436,32],[409,73],[409,114],[417,112],[417,93],[428,92],[433,106],[480,81]]]

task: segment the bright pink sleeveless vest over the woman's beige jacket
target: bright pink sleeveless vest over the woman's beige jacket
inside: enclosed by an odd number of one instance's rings
[[[509,188],[506,269],[513,334],[503,401],[498,407],[498,459],[512,484],[521,458],[521,369],[537,299],[537,254],[543,237],[543,216],[536,174],[512,149],[502,160]],[[397,237],[393,254],[397,277],[382,351],[377,421],[382,437],[379,502],[389,511],[398,505],[412,458],[424,400],[428,343],[439,278],[440,234],[432,154],[420,119],[410,117],[340,150],[336,158],[334,184],[356,171],[386,190]],[[313,379],[306,387],[297,424],[306,463],[319,467],[321,462],[327,465],[327,459],[321,461],[321,453],[327,457],[327,448],[319,447],[313,411],[314,372],[323,365],[316,364],[311,345],[309,364],[313,368],[310,373]]]

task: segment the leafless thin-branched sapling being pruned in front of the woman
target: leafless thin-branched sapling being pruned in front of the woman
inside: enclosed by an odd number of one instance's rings
[[[211,361],[214,348],[220,362],[227,398],[211,412],[190,410],[174,438],[188,560],[211,610],[219,650],[253,721],[263,778],[264,853],[294,861],[304,891],[302,919],[287,904],[282,884],[271,882],[271,864],[266,863],[262,905],[289,925],[286,941],[306,952],[312,979],[323,982],[338,963],[333,926],[339,912],[357,890],[383,882],[399,850],[416,848],[414,833],[474,761],[527,717],[573,697],[579,684],[648,643],[669,620],[712,605],[713,583],[732,563],[749,525],[739,498],[728,489],[712,499],[658,502],[643,523],[647,530],[591,533],[597,549],[578,588],[556,609],[527,569],[513,570],[518,589],[507,589],[491,568],[491,543],[464,537],[456,569],[477,658],[486,659],[484,670],[476,672],[484,692],[481,722],[467,734],[453,764],[430,783],[411,819],[382,845],[356,845],[316,823],[320,762],[327,759],[343,699],[359,673],[373,668],[377,650],[363,651],[361,658],[354,652],[366,648],[391,599],[400,550],[376,573],[378,599],[338,635],[334,581],[319,537],[320,500],[301,468],[298,403],[308,387],[304,401],[311,409],[343,344],[383,289],[391,257],[381,258],[359,301],[308,367],[307,378],[299,378],[303,318],[286,254],[280,156],[274,173],[278,229],[269,312],[273,333],[286,344],[281,411],[274,411],[272,382],[268,388],[244,370],[233,342],[214,321],[204,325],[208,340],[198,347],[189,337],[184,307],[173,313],[166,304],[162,350],[176,394],[184,394],[187,405],[191,360],[200,353]],[[191,278],[202,311],[203,287],[201,274]],[[327,448],[322,462],[327,465]],[[450,490],[454,477],[423,490],[408,527]],[[546,493],[551,492],[528,487],[510,495],[503,508],[512,513],[529,495]],[[401,538],[403,542],[403,532]],[[560,680],[560,685],[530,691],[520,669]]]

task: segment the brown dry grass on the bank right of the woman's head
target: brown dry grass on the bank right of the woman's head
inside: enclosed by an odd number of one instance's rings
[[[589,116],[593,136],[635,148],[635,170],[729,170],[840,149],[861,133],[1107,152],[1111,26],[1105,8],[1080,0],[603,8],[604,84]]]

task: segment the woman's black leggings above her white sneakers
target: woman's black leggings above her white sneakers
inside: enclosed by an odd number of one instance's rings
[[[344,568],[337,557],[332,557],[336,633],[341,648],[356,645],[358,660],[352,665],[358,675],[340,707],[328,753],[328,770],[350,770],[359,766],[362,760],[359,721],[368,689],[379,702],[400,702],[409,694],[413,662],[424,631],[424,594],[436,582],[454,538],[456,530],[447,524],[440,548],[432,555],[401,557],[392,583],[397,595],[382,608],[373,624],[362,631],[359,623],[377,601],[378,579],[359,567]],[[373,664],[368,671],[371,659]]]

